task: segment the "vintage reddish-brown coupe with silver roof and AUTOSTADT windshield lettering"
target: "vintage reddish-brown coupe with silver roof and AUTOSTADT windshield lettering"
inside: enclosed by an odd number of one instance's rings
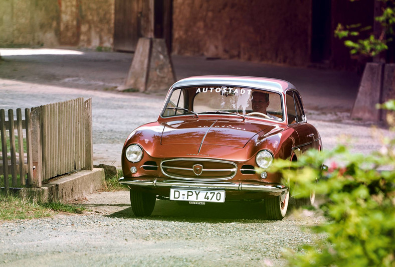
[[[130,188],[136,216],[149,216],[156,198],[189,204],[263,199],[266,216],[281,220],[290,188],[266,169],[275,159],[296,161],[321,148],[291,83],[190,77],[171,86],[157,121],[130,133],[119,182]]]

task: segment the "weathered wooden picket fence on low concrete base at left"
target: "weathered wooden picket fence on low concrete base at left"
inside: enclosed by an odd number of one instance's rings
[[[93,169],[91,98],[26,108],[25,119],[18,108],[17,119],[9,109],[6,121],[0,109],[0,131],[0,185],[6,192],[41,187],[51,178]]]

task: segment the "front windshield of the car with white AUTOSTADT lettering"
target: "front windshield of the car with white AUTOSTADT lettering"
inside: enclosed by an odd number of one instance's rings
[[[174,89],[162,117],[200,114],[232,114],[284,120],[281,95],[276,92],[229,86]]]

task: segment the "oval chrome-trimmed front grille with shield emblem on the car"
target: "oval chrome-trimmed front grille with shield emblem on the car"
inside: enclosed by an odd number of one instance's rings
[[[160,163],[167,177],[181,180],[216,181],[235,177],[237,165],[229,161],[210,159],[173,159]]]

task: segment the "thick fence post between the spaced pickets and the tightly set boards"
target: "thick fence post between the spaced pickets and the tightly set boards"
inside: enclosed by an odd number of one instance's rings
[[[41,147],[41,132],[40,132],[40,107],[32,108],[31,112],[31,128],[32,128],[32,160],[33,160],[33,183],[32,187],[41,187],[43,179],[42,168],[42,147]]]

